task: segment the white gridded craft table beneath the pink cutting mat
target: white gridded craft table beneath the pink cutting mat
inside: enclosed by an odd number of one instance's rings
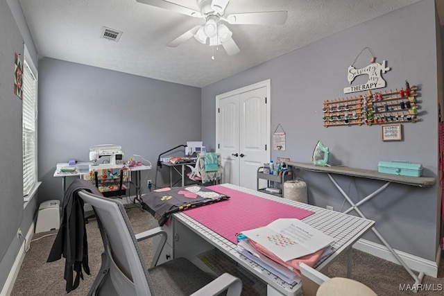
[[[316,270],[325,270],[330,263],[336,260],[341,254],[351,250],[351,246],[375,224],[374,221],[365,218],[321,209],[310,204],[287,200],[268,193],[246,189],[233,184],[221,184],[219,186],[234,189],[242,193],[249,193],[250,195],[255,195],[258,199],[265,198],[267,200],[288,204],[293,207],[314,211],[314,214],[303,218],[302,221],[311,227],[332,236],[335,240],[332,244],[334,253],[319,259],[314,265]],[[254,204],[252,204],[252,207],[253,206]],[[264,212],[267,211],[267,209],[263,210]],[[153,223],[153,226],[156,226],[157,220],[153,219]],[[237,224],[237,221],[232,220],[232,223]],[[302,283],[300,281],[288,283],[278,275],[275,275],[270,270],[264,268],[262,265],[259,265],[255,261],[251,261],[237,251],[236,244],[221,236],[221,234],[215,232],[213,229],[210,229],[207,225],[200,223],[199,220],[195,220],[188,216],[187,211],[173,214],[171,223],[169,223],[169,225],[163,225],[162,228],[169,233],[167,244],[162,251],[164,260],[184,256],[199,267],[205,268],[205,266],[203,266],[205,264],[200,261],[197,255],[216,247],[217,250],[234,260],[243,268],[246,268],[248,272],[251,272],[253,275],[264,281],[267,285],[268,295],[296,296],[302,293]],[[348,270],[350,270],[351,265],[350,254],[351,253],[348,252]]]

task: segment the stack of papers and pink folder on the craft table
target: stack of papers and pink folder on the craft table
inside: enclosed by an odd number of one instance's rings
[[[290,282],[298,281],[300,262],[313,266],[334,252],[328,247],[334,242],[331,236],[294,218],[281,218],[241,234],[248,237],[238,243],[241,254]]]

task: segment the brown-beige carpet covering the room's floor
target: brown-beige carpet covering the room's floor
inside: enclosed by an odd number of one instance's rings
[[[133,207],[132,209],[128,209],[128,216],[135,233],[150,228],[151,215],[146,211],[142,211],[138,207]],[[63,279],[65,260],[61,259],[53,263],[46,263],[49,250],[51,249],[55,238],[55,236],[46,236],[47,234],[56,234],[56,231],[35,234],[33,237],[31,248],[26,253],[22,268],[19,271],[15,286],[12,290],[12,296],[66,295],[66,282]],[[87,295],[87,291],[92,285],[101,264],[100,254],[103,250],[103,244],[95,220],[91,220],[87,224],[87,235],[91,275],[85,275],[85,279],[80,281],[80,286],[69,293],[69,295],[72,296]],[[46,237],[35,241],[36,238],[42,236]],[[146,262],[151,263],[151,241],[142,241],[140,245]],[[411,286],[413,284],[413,279],[401,265],[379,259],[364,252],[353,250],[352,279],[366,284],[378,295],[444,295],[443,261],[444,259],[441,260],[438,278],[435,279],[433,277],[425,276],[422,281],[423,290],[418,293],[412,293],[411,291],[400,290],[400,286]],[[418,272],[416,272],[416,275],[418,275]],[[338,261],[330,265],[329,276],[346,276],[345,256],[341,256]],[[250,295],[250,293],[248,293],[248,295]],[[266,290],[259,291],[257,295],[266,295]]]

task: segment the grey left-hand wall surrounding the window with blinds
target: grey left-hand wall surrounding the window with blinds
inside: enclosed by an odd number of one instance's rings
[[[24,42],[35,52],[26,24],[17,21],[21,13],[16,1],[0,1],[0,287],[20,250],[17,229],[26,234],[37,209],[37,198],[23,202],[22,100],[13,93],[14,54],[23,61]]]

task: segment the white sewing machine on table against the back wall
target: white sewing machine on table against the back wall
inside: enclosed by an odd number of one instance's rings
[[[123,152],[119,145],[103,144],[89,147],[89,168],[114,168],[123,166]]]

